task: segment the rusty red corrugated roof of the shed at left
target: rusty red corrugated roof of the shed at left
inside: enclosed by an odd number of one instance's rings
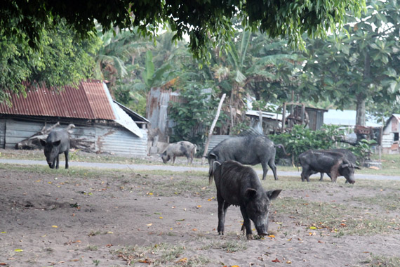
[[[116,119],[107,86],[98,80],[81,82],[77,89],[63,86],[60,91],[32,87],[26,98],[13,96],[11,103],[11,107],[0,103],[0,114]]]

